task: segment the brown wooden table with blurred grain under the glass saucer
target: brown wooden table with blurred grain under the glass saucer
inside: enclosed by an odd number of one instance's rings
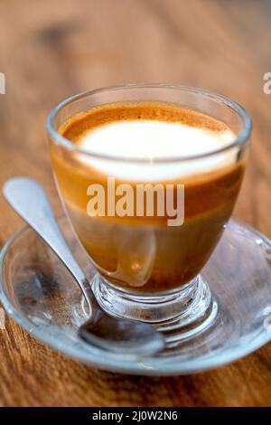
[[[80,90],[126,81],[176,82],[237,100],[254,120],[245,184],[235,210],[271,237],[269,0],[2,0],[0,183],[39,179],[58,207],[45,118]],[[22,222],[0,198],[1,244]],[[105,373],[56,354],[6,318],[0,331],[2,406],[271,405],[271,345],[193,376]]]

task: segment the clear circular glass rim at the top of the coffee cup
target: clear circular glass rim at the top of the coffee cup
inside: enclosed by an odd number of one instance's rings
[[[114,156],[110,154],[98,154],[97,152],[91,152],[89,151],[89,149],[86,150],[84,148],[76,146],[68,138],[61,136],[61,134],[55,128],[55,118],[57,114],[60,112],[61,109],[63,109],[65,106],[69,105],[70,103],[74,102],[75,100],[83,99],[83,98],[86,98],[91,95],[95,95],[104,91],[126,90],[126,89],[172,89],[172,90],[182,90],[182,91],[187,91],[192,93],[199,93],[201,94],[201,96],[205,96],[209,99],[216,100],[220,104],[223,104],[229,109],[233,110],[238,115],[238,117],[241,118],[243,126],[242,126],[242,129],[234,138],[234,140],[229,145],[220,147],[219,149],[214,149],[208,153],[195,154],[192,156],[173,156],[173,157],[166,156],[166,157],[152,157],[152,158],[142,158],[142,157],[135,157],[135,156],[133,157]],[[248,137],[250,136],[250,133],[251,133],[252,120],[248,112],[246,111],[246,109],[241,107],[237,102],[210,90],[202,90],[200,88],[185,86],[181,84],[127,83],[127,84],[111,85],[107,87],[98,88],[95,90],[81,91],[73,96],[70,96],[67,99],[62,100],[58,105],[56,105],[53,109],[51,109],[51,112],[47,118],[46,127],[47,127],[47,131],[49,135],[56,143],[58,143],[61,146],[65,146],[69,148],[71,151],[74,151],[78,154],[91,156],[98,159],[105,159],[105,160],[118,161],[118,162],[125,161],[129,163],[134,163],[134,164],[150,164],[150,163],[166,164],[166,163],[173,163],[173,162],[183,163],[188,161],[195,161],[202,158],[207,158],[210,156],[216,156],[230,150],[233,147],[244,145],[246,141],[248,140]]]

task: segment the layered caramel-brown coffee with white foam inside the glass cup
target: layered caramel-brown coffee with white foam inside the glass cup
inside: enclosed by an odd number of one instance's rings
[[[227,149],[235,138],[229,127],[154,102],[93,108],[70,118],[59,132],[75,149],[51,143],[53,170],[71,223],[98,271],[118,287],[150,293],[193,279],[220,240],[243,177],[237,148]],[[182,225],[169,226],[166,213],[149,216],[146,210],[141,216],[89,216],[89,185],[103,186],[107,203],[112,176],[116,187],[171,184],[173,194],[183,184]],[[154,194],[154,212],[157,203]]]

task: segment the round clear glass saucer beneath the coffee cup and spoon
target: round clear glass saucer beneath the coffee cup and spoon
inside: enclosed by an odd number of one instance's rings
[[[65,217],[60,223],[92,279],[95,269],[70,224]],[[271,339],[271,241],[244,223],[229,222],[201,278],[218,302],[216,319],[204,332],[140,361],[79,339],[77,328],[87,318],[79,288],[29,227],[15,233],[2,250],[0,297],[27,332],[84,364],[120,373],[177,375],[227,364]]]

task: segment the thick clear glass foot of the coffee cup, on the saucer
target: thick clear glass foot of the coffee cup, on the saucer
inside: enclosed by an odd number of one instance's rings
[[[113,287],[99,274],[92,279],[92,288],[108,314],[152,324],[163,332],[170,346],[204,332],[219,312],[218,303],[201,275],[182,288],[154,295],[126,292]]]

